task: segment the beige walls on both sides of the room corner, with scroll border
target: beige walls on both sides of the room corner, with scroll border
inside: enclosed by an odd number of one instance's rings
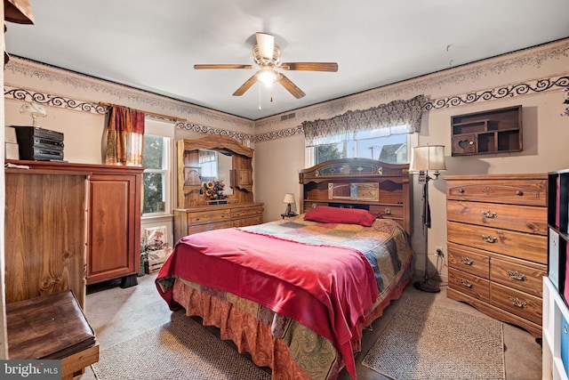
[[[20,114],[20,106],[22,100],[35,98],[48,111],[48,117],[40,118],[38,124],[65,133],[65,158],[70,162],[95,164],[102,162],[101,141],[105,129],[105,109],[98,105],[99,101],[184,119],[174,130],[176,140],[229,131],[255,150],[255,200],[265,203],[264,220],[272,221],[284,212],[285,193],[292,192],[296,199],[300,195],[298,171],[306,167],[307,160],[302,121],[411,99],[420,93],[429,101],[424,105],[418,143],[446,146],[448,171],[445,174],[545,173],[569,167],[569,157],[564,154],[569,141],[569,117],[560,116],[564,109],[562,89],[569,85],[567,68],[569,40],[564,40],[252,122],[14,59],[4,71],[5,121],[6,125],[28,125],[31,120]],[[522,152],[451,157],[450,118],[453,115],[518,104],[523,106]],[[413,176],[413,189],[413,247],[419,254],[418,263],[423,263],[421,188],[416,183],[416,176]],[[434,247],[443,247],[446,253],[444,176],[431,182],[429,196],[432,213],[429,259],[435,263]],[[168,220],[166,217],[143,221],[143,226],[162,225]],[[445,263],[439,263],[438,270],[445,279]]]

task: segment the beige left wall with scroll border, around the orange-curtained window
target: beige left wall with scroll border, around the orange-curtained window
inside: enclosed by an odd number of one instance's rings
[[[253,131],[252,121],[241,117],[173,101],[32,61],[12,58],[4,68],[4,75],[5,125],[31,125],[31,117],[20,113],[23,101],[34,100],[42,104],[47,110],[47,117],[38,117],[37,125],[64,133],[64,159],[69,162],[104,163],[102,147],[106,138],[107,109],[101,106],[100,102],[163,115],[164,117],[153,117],[152,123],[148,123],[148,132],[172,138],[172,206],[176,206],[176,140],[202,137],[204,132],[215,128],[231,130],[237,136],[249,136]],[[177,119],[180,119],[178,123],[186,129],[175,127]],[[191,123],[187,123],[188,120],[191,120]],[[145,228],[160,225],[168,227],[168,241],[172,242],[170,213],[142,218],[141,221],[142,232]]]

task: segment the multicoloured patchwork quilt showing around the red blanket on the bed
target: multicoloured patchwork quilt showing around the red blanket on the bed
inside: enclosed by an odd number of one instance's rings
[[[283,221],[244,227],[241,230],[309,245],[349,247],[363,253],[373,269],[379,294],[370,309],[373,315],[370,315],[369,323],[381,315],[391,299],[398,296],[394,293],[400,293],[402,284],[405,285],[413,273],[413,250],[408,237],[405,231],[391,220],[377,219],[372,227],[362,227],[357,224],[309,222],[299,215]],[[288,344],[293,360],[310,378],[333,379],[341,370],[344,363],[333,344],[298,321],[228,292],[204,287],[188,280],[182,281],[189,287],[236,305],[271,326],[273,336]],[[159,274],[156,279],[156,285],[163,292],[172,287],[173,283],[174,279],[168,275]],[[357,351],[361,336],[355,338],[357,339],[352,345]],[[306,347],[306,342],[310,342],[310,347]],[[314,350],[315,345],[318,350]]]

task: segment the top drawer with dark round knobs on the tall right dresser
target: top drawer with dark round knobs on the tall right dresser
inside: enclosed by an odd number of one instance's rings
[[[457,180],[446,189],[448,199],[515,205],[547,206],[547,179],[538,180]]]

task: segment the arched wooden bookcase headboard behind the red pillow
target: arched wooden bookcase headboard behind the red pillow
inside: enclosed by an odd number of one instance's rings
[[[393,219],[411,235],[409,165],[340,158],[299,172],[301,213],[316,206],[364,208]]]

